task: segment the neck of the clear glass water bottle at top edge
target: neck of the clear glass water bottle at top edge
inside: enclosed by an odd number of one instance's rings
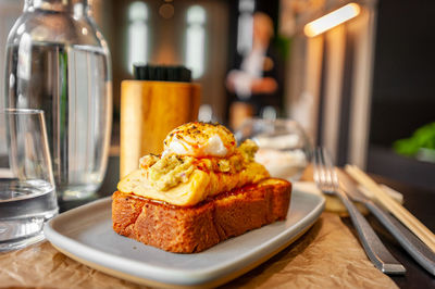
[[[52,12],[67,12],[74,14],[87,14],[87,0],[25,0],[24,11],[46,10]]]

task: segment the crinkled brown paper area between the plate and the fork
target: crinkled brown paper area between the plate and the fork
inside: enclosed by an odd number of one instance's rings
[[[302,238],[229,288],[397,288],[366,257],[338,215],[323,213]]]

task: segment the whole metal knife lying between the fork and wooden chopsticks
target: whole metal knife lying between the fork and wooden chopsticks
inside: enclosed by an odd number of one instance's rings
[[[427,272],[435,276],[435,253],[393,215],[376,205],[359,191],[353,180],[341,169],[337,169],[339,186],[352,201],[363,203],[369,211],[396,238],[400,246]]]

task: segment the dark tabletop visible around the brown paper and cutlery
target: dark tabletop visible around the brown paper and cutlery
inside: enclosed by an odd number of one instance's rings
[[[435,210],[433,205],[435,203],[435,188],[434,190],[427,190],[418,188],[414,186],[407,186],[400,181],[387,179],[381,176],[373,176],[377,183],[385,184],[397,191],[401,192],[405,197],[405,208],[407,208],[415,217],[418,217],[428,229],[435,231]],[[104,181],[99,189],[98,193],[94,199],[103,198],[110,196],[116,188],[119,180],[119,158],[110,156],[108,173]],[[94,199],[83,201],[69,201],[60,202],[61,212],[76,208],[80,204],[89,202]],[[428,274],[423,267],[421,267],[394,239],[394,237],[382,226],[377,219],[369,215],[368,219],[372,227],[375,229],[382,241],[390,250],[391,254],[400,261],[407,268],[405,276],[390,276],[391,279],[400,288],[435,288],[435,277]],[[357,235],[357,231],[351,225],[348,217],[343,217],[344,223],[349,229]]]

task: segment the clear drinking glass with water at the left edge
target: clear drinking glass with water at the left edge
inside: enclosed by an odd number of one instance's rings
[[[0,112],[0,251],[42,240],[58,214],[44,112]]]

